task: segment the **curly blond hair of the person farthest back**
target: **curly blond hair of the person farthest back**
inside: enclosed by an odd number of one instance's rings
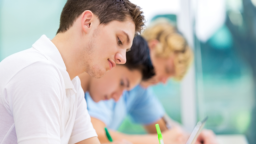
[[[193,51],[184,37],[167,20],[158,20],[142,34],[147,42],[158,40],[156,57],[168,58],[174,54],[175,76],[180,81],[187,73],[193,60]]]

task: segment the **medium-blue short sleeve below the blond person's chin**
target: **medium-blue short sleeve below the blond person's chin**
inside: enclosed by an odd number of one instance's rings
[[[164,116],[163,105],[156,98],[151,88],[145,89],[137,86],[126,94],[129,95],[127,97],[130,97],[130,100],[133,100],[128,101],[130,103],[129,114],[133,122],[148,125]]]

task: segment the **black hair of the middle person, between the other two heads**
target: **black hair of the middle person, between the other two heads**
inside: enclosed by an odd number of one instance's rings
[[[155,75],[155,70],[150,60],[147,41],[140,35],[134,37],[131,51],[126,52],[126,63],[124,66],[130,70],[140,70],[142,72],[143,81]]]

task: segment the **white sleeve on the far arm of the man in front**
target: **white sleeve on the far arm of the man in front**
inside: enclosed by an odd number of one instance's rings
[[[77,90],[78,105],[75,124],[68,144],[75,144],[83,141],[84,139],[98,136],[91,123],[91,117],[87,110],[87,104],[84,99],[84,92],[81,87],[80,79],[78,77],[76,77],[76,79],[79,81],[79,88]]]

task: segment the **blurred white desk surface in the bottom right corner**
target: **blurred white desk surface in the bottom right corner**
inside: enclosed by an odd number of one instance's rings
[[[249,144],[245,135],[217,135],[220,144]]]

